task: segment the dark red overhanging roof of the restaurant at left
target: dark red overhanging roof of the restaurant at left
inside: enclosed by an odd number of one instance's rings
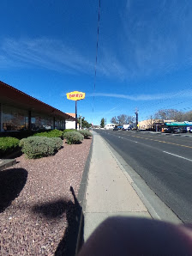
[[[51,107],[2,81],[0,81],[0,102],[4,105],[25,108],[33,112],[52,115],[53,117],[73,119],[69,114],[63,113],[57,108]]]

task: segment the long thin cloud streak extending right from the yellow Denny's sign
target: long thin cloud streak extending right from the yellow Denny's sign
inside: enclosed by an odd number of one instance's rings
[[[128,95],[128,94],[105,94],[105,93],[95,93],[87,94],[87,97],[111,97],[119,99],[127,99],[130,101],[158,101],[165,99],[174,99],[174,98],[189,98],[192,97],[192,89],[182,90],[175,93],[166,93],[166,94],[137,94],[137,95]]]

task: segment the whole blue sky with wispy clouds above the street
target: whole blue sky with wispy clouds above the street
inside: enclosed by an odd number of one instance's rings
[[[119,114],[148,119],[191,110],[192,2],[1,0],[0,80],[75,112],[66,93],[86,93],[78,114],[99,125]],[[94,95],[94,101],[93,101]]]

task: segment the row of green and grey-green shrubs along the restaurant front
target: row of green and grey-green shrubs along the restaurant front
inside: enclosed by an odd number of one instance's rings
[[[0,137],[0,157],[21,150],[28,158],[39,158],[54,155],[63,145],[61,138],[67,143],[81,143],[84,138],[92,137],[90,131],[75,131],[66,129],[64,131],[52,130],[39,132],[33,137],[22,138],[21,141],[15,137]]]

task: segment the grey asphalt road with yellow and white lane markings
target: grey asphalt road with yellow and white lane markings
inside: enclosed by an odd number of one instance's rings
[[[136,131],[95,130],[159,198],[192,223],[192,137]]]

